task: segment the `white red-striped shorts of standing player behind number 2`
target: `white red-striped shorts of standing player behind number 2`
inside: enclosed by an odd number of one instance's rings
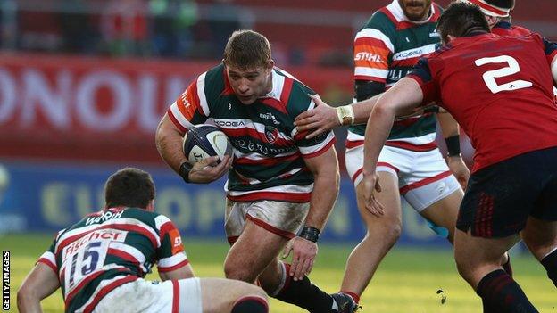
[[[355,187],[363,178],[363,144],[347,148],[345,155],[346,171]],[[414,152],[386,145],[379,154],[377,171],[398,177],[400,194],[418,212],[461,187],[437,148]]]

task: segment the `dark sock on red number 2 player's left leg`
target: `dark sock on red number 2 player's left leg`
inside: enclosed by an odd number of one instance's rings
[[[484,276],[476,292],[484,301],[484,308],[495,309],[493,312],[537,312],[519,284],[503,269],[496,269]]]

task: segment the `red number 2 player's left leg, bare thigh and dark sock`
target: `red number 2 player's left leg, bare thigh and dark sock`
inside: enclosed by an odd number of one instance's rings
[[[537,312],[519,284],[500,265],[503,254],[518,240],[518,235],[474,237],[458,229],[454,234],[454,259],[459,273],[497,312]]]

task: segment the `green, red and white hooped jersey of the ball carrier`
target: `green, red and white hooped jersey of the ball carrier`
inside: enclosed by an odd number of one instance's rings
[[[315,106],[308,96],[315,92],[284,70],[271,73],[270,93],[245,105],[220,64],[188,86],[167,113],[182,132],[210,119],[229,137],[235,148],[225,185],[230,200],[309,202],[313,176],[303,159],[328,151],[335,136],[328,132],[308,140],[298,133],[295,117]]]

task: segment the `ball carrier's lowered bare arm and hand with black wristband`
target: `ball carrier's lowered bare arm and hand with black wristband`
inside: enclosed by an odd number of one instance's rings
[[[285,250],[285,257],[293,251],[290,276],[302,279],[312,271],[313,261],[317,255],[317,240],[320,231],[325,227],[328,215],[338,195],[337,152],[330,146],[326,152],[312,158],[304,158],[305,164],[312,171],[314,183],[310,210],[303,226],[302,233],[292,239]]]

